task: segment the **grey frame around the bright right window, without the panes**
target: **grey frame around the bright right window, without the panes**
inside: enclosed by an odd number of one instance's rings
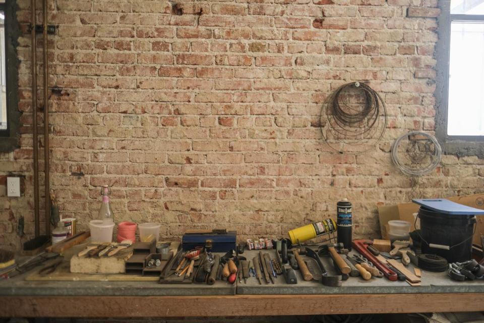
[[[450,1],[440,1],[441,15],[438,18],[439,40],[436,46],[436,136],[444,153],[459,156],[484,157],[484,136],[451,136],[447,134],[447,112],[449,107],[450,74],[450,30],[452,22],[475,21],[484,23],[484,15],[451,14]]]

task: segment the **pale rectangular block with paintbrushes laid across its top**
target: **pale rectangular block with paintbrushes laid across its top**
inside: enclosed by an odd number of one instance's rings
[[[119,274],[125,272],[125,262],[133,255],[133,249],[120,250],[112,257],[71,258],[71,273],[77,274]]]

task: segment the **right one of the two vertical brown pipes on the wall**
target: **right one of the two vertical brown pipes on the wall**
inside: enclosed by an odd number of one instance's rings
[[[50,236],[50,183],[49,183],[49,71],[47,57],[47,0],[42,1],[43,67],[44,67],[44,184],[45,184],[45,235]]]

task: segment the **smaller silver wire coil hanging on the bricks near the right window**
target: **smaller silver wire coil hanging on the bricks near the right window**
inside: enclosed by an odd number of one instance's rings
[[[410,176],[413,198],[425,197],[418,189],[418,180],[434,171],[441,159],[442,147],[434,136],[425,132],[410,131],[398,137],[392,146],[393,163]]]

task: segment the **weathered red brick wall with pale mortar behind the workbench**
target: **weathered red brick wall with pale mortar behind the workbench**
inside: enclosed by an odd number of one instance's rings
[[[20,216],[33,232],[30,1],[18,4],[23,134],[21,148],[0,154],[0,184],[9,172],[26,176],[24,197],[8,199],[0,186],[0,245],[11,246],[19,245]],[[434,130],[436,7],[436,0],[50,1],[58,25],[48,44],[57,88],[50,181],[62,216],[86,226],[99,186],[109,184],[116,221],[157,221],[163,236],[199,227],[281,236],[334,217],[336,201],[347,197],[355,234],[371,236],[378,204],[480,191],[481,159],[446,155],[416,190],[390,159],[399,135]],[[369,153],[340,155],[321,138],[321,106],[355,80],[382,95],[389,126]]]

